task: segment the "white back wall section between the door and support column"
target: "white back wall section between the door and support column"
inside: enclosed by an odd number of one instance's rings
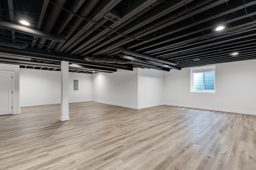
[[[60,103],[60,72],[20,68],[20,106]]]

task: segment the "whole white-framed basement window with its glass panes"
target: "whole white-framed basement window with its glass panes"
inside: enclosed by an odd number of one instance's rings
[[[190,69],[191,92],[215,93],[215,66]]]

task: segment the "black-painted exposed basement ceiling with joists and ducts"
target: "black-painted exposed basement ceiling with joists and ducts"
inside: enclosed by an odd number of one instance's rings
[[[1,0],[0,63],[169,71],[256,59],[255,30],[255,0]]]

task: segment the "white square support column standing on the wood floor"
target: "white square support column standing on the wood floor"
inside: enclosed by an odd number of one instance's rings
[[[60,120],[69,120],[68,116],[68,61],[61,62],[61,115]]]

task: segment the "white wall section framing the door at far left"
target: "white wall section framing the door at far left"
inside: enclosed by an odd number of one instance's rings
[[[20,114],[20,66],[14,64],[2,64],[0,63],[0,70],[10,71],[13,74],[14,89],[12,96],[12,114]]]

